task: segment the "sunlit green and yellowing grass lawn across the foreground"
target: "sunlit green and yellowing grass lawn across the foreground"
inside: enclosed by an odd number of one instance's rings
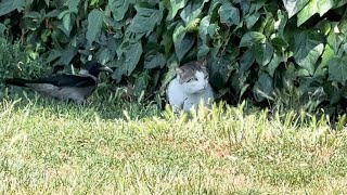
[[[344,123],[243,105],[175,116],[155,104],[3,100],[0,193],[344,194]]]

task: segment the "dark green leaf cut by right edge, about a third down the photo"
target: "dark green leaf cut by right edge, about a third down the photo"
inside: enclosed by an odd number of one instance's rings
[[[347,80],[347,56],[334,57],[327,66],[329,79],[345,84]]]

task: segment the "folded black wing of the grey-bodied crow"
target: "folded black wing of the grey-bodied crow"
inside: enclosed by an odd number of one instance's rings
[[[48,83],[55,87],[77,87],[85,88],[97,84],[97,80],[88,76],[79,75],[55,75],[52,77],[37,78],[30,81],[30,83]]]

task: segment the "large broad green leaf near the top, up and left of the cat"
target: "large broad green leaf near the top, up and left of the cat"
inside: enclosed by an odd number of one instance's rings
[[[159,24],[163,18],[163,12],[160,10],[147,9],[136,6],[137,14],[131,21],[128,31],[136,34],[146,34],[150,35],[155,25]]]

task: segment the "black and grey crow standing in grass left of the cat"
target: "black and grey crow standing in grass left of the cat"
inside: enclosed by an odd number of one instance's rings
[[[95,90],[101,72],[112,73],[112,69],[100,63],[88,61],[78,75],[61,74],[33,80],[12,78],[7,79],[5,84],[27,87],[61,101],[73,100],[83,103]]]

